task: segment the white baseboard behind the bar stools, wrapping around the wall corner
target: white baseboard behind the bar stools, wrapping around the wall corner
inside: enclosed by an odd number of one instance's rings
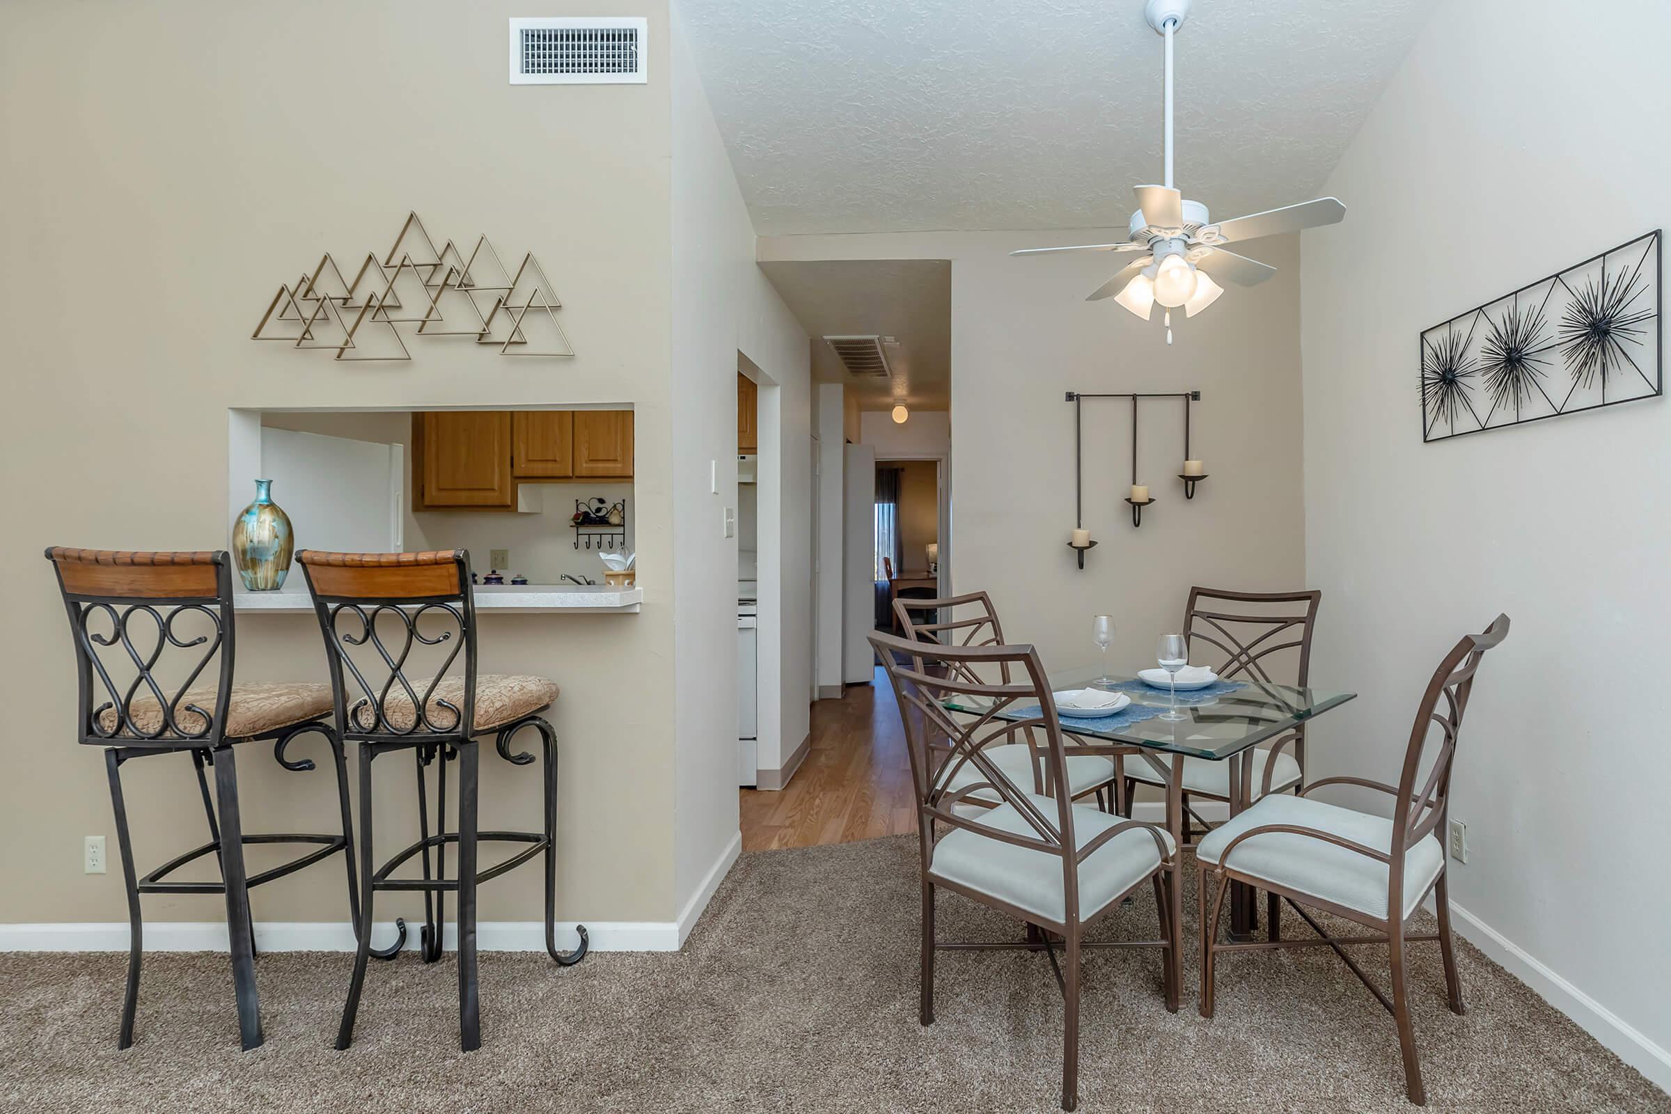
[[[677,952],[742,853],[742,832],[727,843],[719,860],[690,897],[678,920],[587,920],[587,939],[595,952]],[[419,924],[406,922],[408,947],[418,942]],[[446,922],[443,945],[458,947],[458,924]],[[394,922],[379,920],[371,942],[386,947],[394,940]],[[556,922],[556,945],[570,950],[580,944],[573,920]],[[543,952],[543,920],[483,920],[476,925],[483,952]],[[226,952],[224,920],[147,920],[147,952]],[[262,952],[353,952],[354,930],[346,920],[262,920],[256,922],[256,947]],[[125,952],[127,922],[0,924],[0,952]]]

